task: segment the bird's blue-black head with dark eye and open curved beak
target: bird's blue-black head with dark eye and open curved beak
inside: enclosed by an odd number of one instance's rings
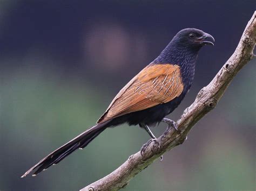
[[[193,28],[187,28],[179,31],[172,39],[172,43],[177,46],[192,49],[200,49],[204,45],[214,45],[214,41],[215,40],[211,34]]]

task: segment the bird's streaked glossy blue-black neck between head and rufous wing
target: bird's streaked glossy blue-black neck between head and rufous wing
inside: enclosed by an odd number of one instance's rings
[[[199,49],[191,49],[184,46],[172,46],[171,43],[153,62],[158,64],[170,63],[172,65],[179,65],[183,82],[190,88],[194,79],[194,70]]]

